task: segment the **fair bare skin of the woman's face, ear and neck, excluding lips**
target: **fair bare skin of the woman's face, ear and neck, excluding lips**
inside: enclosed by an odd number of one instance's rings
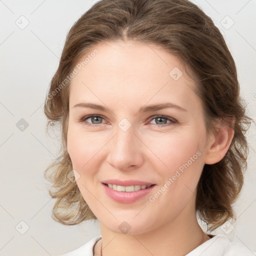
[[[209,239],[196,219],[196,185],[204,163],[223,158],[233,131],[218,123],[216,135],[206,133],[202,102],[193,91],[196,83],[179,59],[160,46],[109,41],[94,48],[98,54],[70,84],[67,132],[77,185],[100,223],[102,239],[94,253],[100,255],[102,243],[104,256],[184,255]],[[169,75],[174,67],[183,73],[177,80]],[[110,112],[73,107],[82,102],[106,106]],[[172,107],[138,112],[142,106],[163,102],[186,110]],[[103,118],[79,122],[89,114]],[[153,118],[159,115],[176,121]],[[126,131],[118,127],[123,118],[131,124]],[[198,151],[200,156],[150,202],[148,197]],[[101,181],[108,178],[156,185],[149,195],[124,204],[105,194]],[[118,228],[123,221],[130,225],[127,233]]]

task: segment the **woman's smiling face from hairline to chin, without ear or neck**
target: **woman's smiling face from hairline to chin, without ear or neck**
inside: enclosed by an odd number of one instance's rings
[[[207,150],[197,85],[177,57],[155,44],[95,48],[98,53],[76,68],[69,97],[67,150],[85,201],[117,233],[127,223],[128,233],[143,233],[193,214]],[[128,192],[144,182],[152,186]]]

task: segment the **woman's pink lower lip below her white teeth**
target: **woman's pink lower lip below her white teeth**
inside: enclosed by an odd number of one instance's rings
[[[152,185],[145,189],[140,189],[140,190],[133,191],[133,192],[124,192],[124,191],[116,191],[104,184],[102,184],[102,185],[105,189],[106,194],[111,199],[113,199],[114,201],[117,201],[117,202],[121,202],[121,203],[134,202],[134,201],[138,200],[139,198],[141,198],[142,196],[145,196],[146,194],[148,194],[155,187],[155,185]]]

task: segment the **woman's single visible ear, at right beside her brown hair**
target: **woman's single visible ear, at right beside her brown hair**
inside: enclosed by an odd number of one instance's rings
[[[228,120],[228,122],[219,120],[214,126],[216,132],[209,136],[204,163],[213,164],[225,156],[234,135],[232,128],[234,121],[234,119]]]

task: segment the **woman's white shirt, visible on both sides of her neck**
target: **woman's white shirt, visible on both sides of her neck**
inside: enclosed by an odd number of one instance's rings
[[[93,256],[93,246],[101,238],[97,236],[82,246],[60,256]],[[224,235],[214,235],[209,240],[188,252],[185,256],[254,256],[247,246],[230,242]]]

